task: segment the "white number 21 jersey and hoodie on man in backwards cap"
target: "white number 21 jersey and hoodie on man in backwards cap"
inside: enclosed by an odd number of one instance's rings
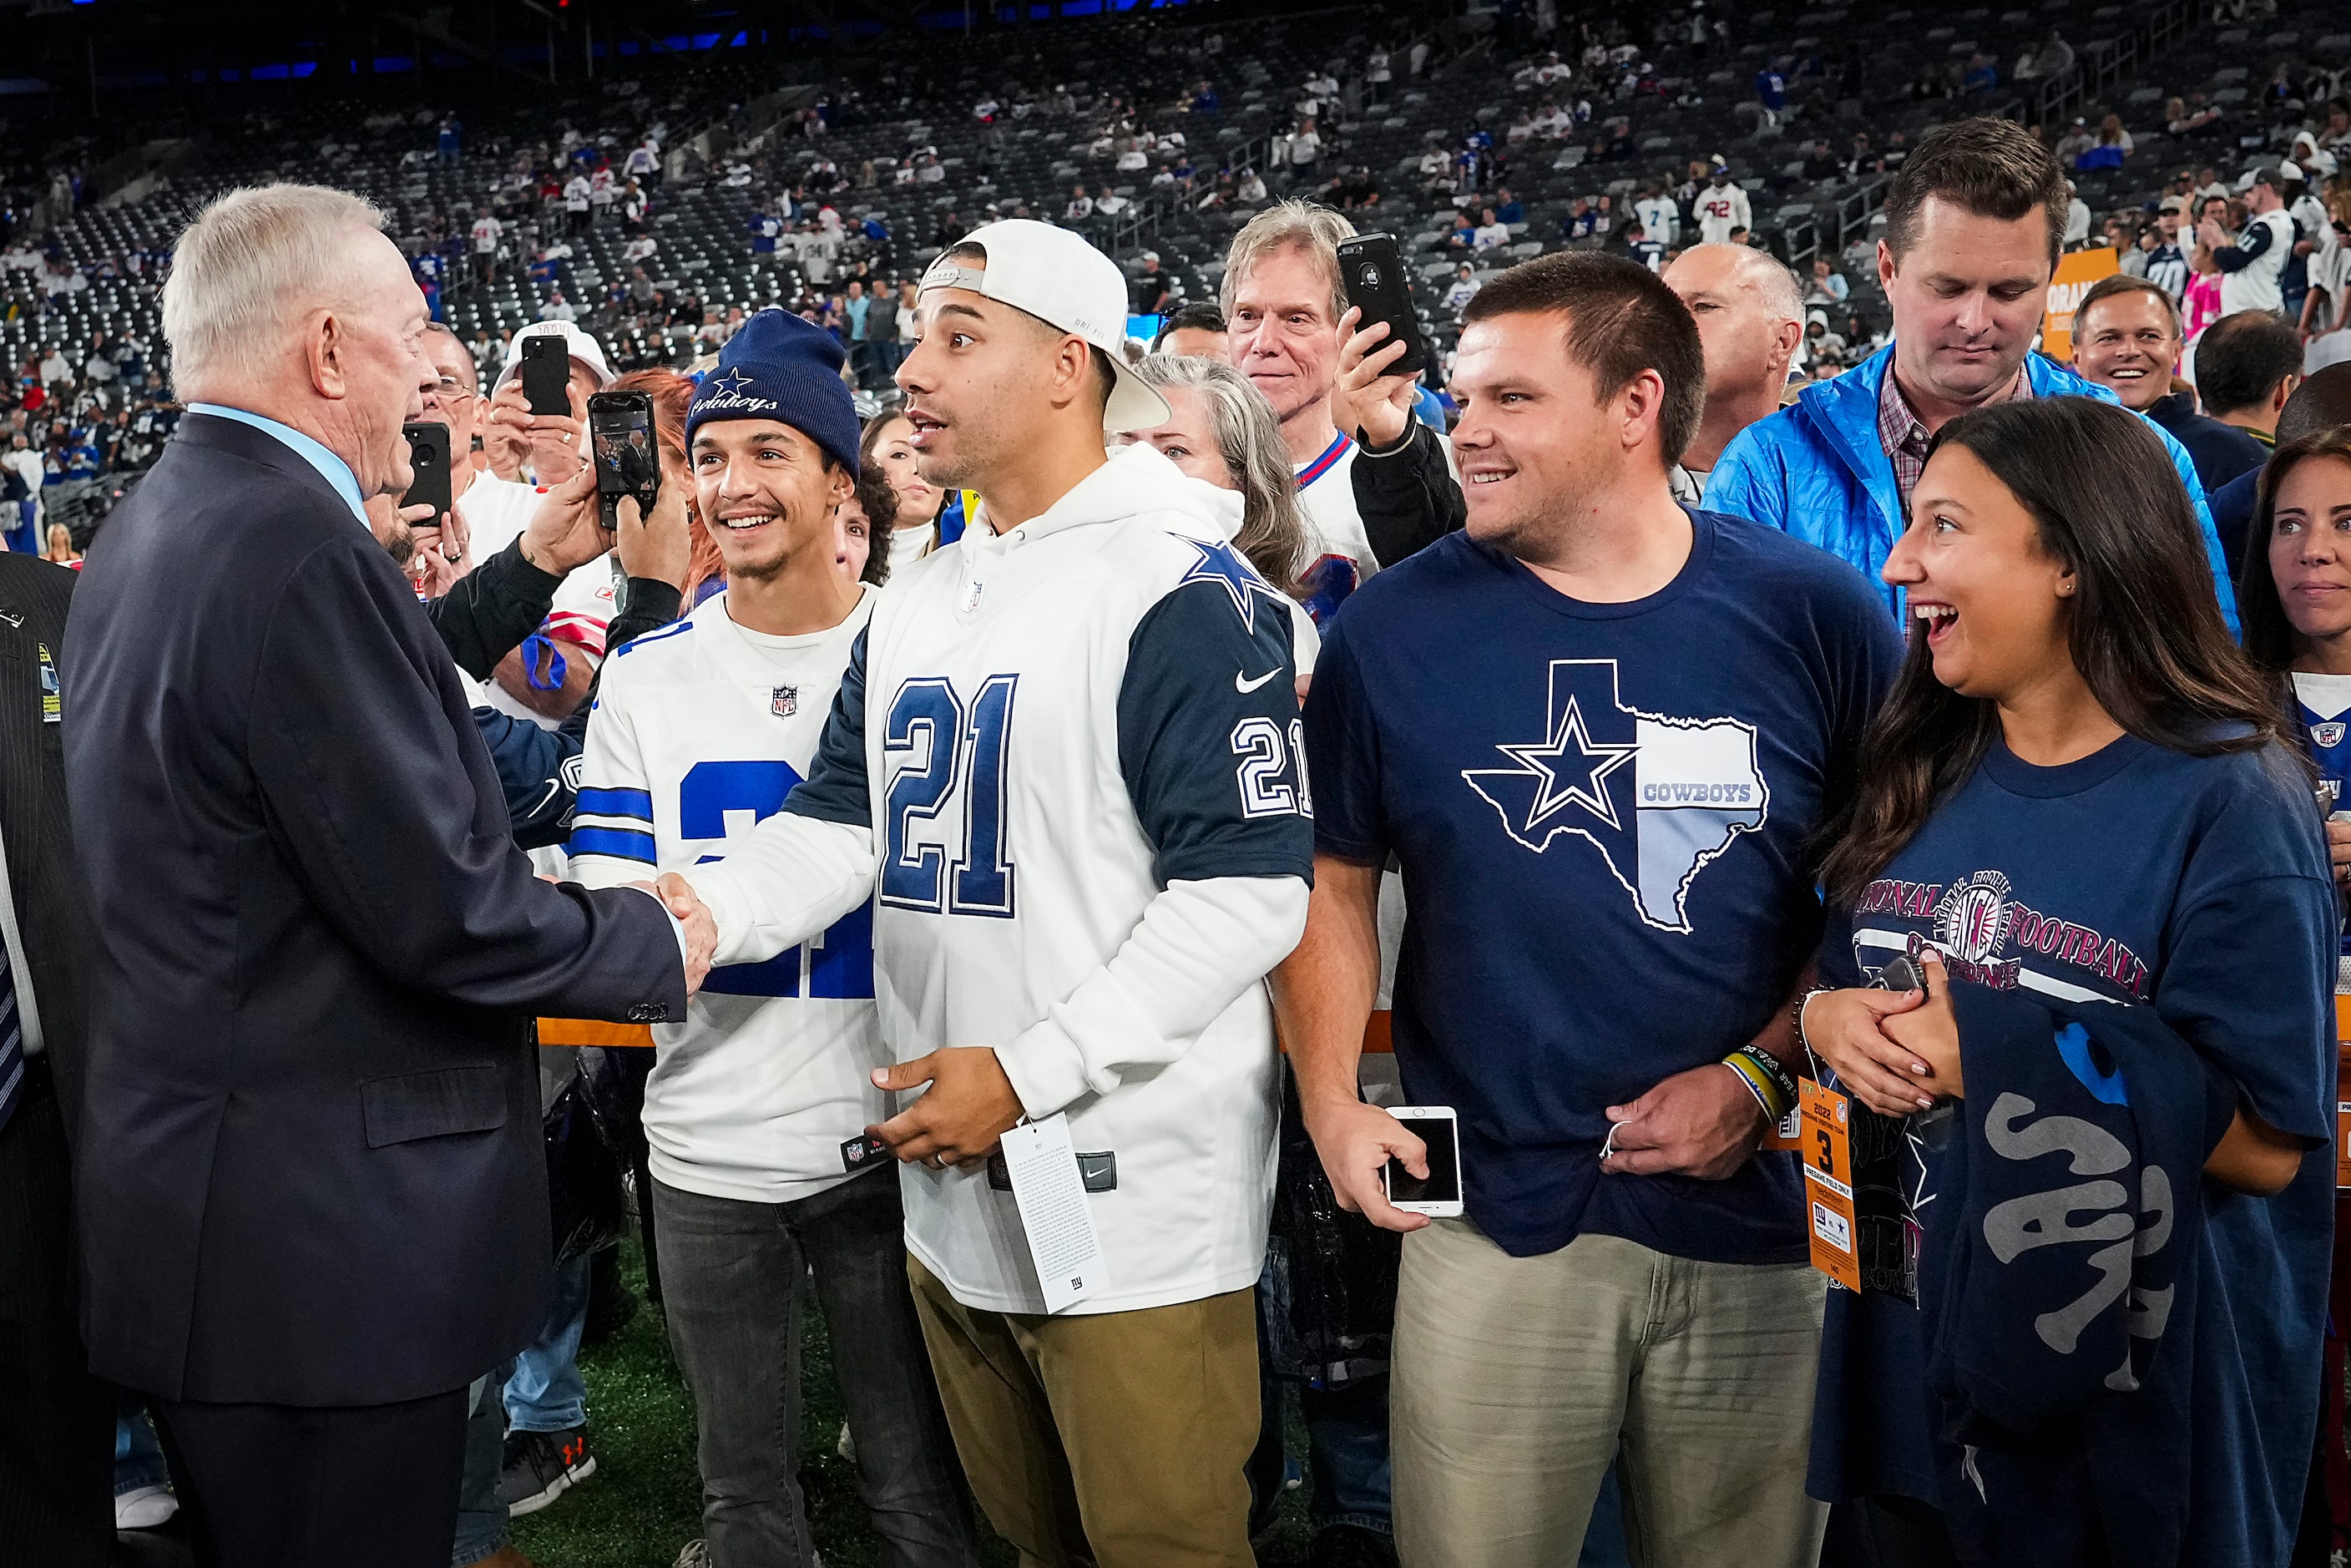
[[[809,783],[694,877],[722,959],[870,886],[891,1056],[992,1046],[1027,1114],[1110,1157],[1086,1199],[1107,1284],[1072,1312],[1239,1291],[1265,1262],[1260,980],[1305,914],[1312,799],[1288,607],[1208,494],[1133,444],[907,567]],[[1044,1312],[1009,1190],[900,1171],[907,1248],[959,1302]]]

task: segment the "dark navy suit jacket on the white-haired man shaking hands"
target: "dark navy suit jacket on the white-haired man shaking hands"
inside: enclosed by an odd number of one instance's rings
[[[527,1018],[684,1016],[668,914],[531,875],[414,590],[252,425],[186,416],[108,517],[63,689],[92,1368],[289,1406],[491,1371],[552,1279]]]

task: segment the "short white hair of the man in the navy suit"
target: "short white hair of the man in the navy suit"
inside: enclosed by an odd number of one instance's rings
[[[174,393],[259,378],[294,313],[348,282],[353,228],[381,230],[383,209],[329,186],[254,186],[205,207],[162,284]]]

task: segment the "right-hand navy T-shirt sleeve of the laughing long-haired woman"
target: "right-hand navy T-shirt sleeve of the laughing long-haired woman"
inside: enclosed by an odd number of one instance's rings
[[[2280,1133],[2335,1138],[2339,922],[2325,837],[2283,750],[2245,757],[2179,879],[2156,1009]]]

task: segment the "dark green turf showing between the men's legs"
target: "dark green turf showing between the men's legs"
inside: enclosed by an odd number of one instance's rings
[[[644,1258],[635,1239],[623,1246],[621,1272],[642,1300]],[[581,1354],[581,1371],[588,1378],[595,1476],[552,1507],[517,1519],[515,1544],[538,1568],[670,1568],[677,1549],[701,1535],[701,1483],[694,1476],[694,1399],[670,1363],[661,1309],[644,1302],[621,1333]],[[799,1481],[809,1495],[809,1523],[825,1568],[868,1568],[875,1561],[872,1537],[853,1467],[835,1450],[842,1403],[832,1392],[825,1319],[813,1300],[804,1394]],[[1302,1441],[1293,1441],[1293,1453],[1302,1453]],[[1300,1493],[1284,1505],[1281,1526],[1260,1544],[1262,1563],[1305,1561]],[[1013,1552],[987,1535],[983,1561],[1011,1568]]]

